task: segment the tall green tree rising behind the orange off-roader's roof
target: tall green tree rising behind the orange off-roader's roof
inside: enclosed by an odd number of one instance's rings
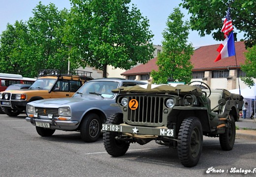
[[[26,65],[33,70],[25,71],[36,75],[38,69],[67,70],[68,47],[63,43],[67,16],[66,9],[59,11],[53,3],[39,2],[33,9],[33,17],[28,21],[29,45],[25,48],[25,53],[29,54]]]

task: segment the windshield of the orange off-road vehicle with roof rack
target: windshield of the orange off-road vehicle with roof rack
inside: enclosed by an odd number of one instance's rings
[[[50,90],[57,79],[37,79],[30,89]]]

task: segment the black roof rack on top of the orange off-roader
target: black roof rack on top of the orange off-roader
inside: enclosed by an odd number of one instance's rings
[[[58,69],[39,69],[38,77],[41,76],[79,76],[83,80],[92,80],[93,72],[81,71],[81,70],[72,70],[72,71],[62,71]]]

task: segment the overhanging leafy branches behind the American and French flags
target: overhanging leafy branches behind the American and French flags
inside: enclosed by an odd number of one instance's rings
[[[216,40],[224,40],[221,28],[230,6],[232,25],[239,32],[244,32],[247,47],[256,44],[256,3],[255,0],[182,0],[184,8],[192,15],[190,24],[192,30],[199,31],[200,36],[213,35]]]

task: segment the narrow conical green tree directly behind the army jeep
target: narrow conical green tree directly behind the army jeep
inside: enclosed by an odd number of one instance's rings
[[[192,79],[191,56],[192,44],[187,44],[189,35],[188,21],[183,22],[184,15],[179,8],[174,8],[168,16],[163,30],[162,52],[158,56],[159,71],[152,71],[153,82],[166,84],[170,78],[173,81],[188,83]]]

